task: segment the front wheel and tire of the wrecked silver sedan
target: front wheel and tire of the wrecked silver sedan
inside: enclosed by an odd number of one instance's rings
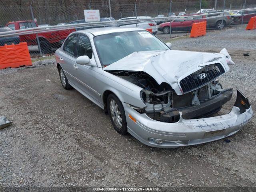
[[[108,115],[114,129],[121,135],[127,134],[127,123],[122,102],[114,94],[107,99]]]

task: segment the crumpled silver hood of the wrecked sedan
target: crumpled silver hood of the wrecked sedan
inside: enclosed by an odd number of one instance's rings
[[[178,95],[182,94],[178,87],[178,79],[189,75],[202,66],[219,62],[226,71],[229,67],[226,56],[221,53],[191,52],[179,50],[134,52],[103,70],[144,71],[152,76],[158,84],[166,82]]]

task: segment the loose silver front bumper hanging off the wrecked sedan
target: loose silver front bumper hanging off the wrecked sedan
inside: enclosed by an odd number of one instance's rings
[[[253,116],[252,106],[239,90],[236,103],[229,114],[185,120],[180,113],[180,120],[176,123],[152,120],[126,103],[123,103],[123,106],[128,132],[140,142],[160,148],[202,144],[228,137],[238,132]],[[162,144],[158,144],[159,140]]]

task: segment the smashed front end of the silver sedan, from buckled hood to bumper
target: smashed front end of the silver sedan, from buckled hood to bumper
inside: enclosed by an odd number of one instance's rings
[[[230,113],[216,116],[233,94],[218,81],[228,60],[227,54],[136,52],[104,70],[142,88],[143,108],[123,101],[128,132],[149,146],[175,148],[225,138],[252,118],[239,90]]]

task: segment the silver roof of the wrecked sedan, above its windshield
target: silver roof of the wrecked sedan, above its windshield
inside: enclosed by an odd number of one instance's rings
[[[144,29],[128,28],[128,27],[104,27],[104,28],[92,28],[92,29],[80,30],[79,33],[89,32],[89,33],[93,34],[94,36],[99,36],[99,35],[110,34],[110,33],[128,32],[128,31],[141,31],[141,30],[144,30]]]

